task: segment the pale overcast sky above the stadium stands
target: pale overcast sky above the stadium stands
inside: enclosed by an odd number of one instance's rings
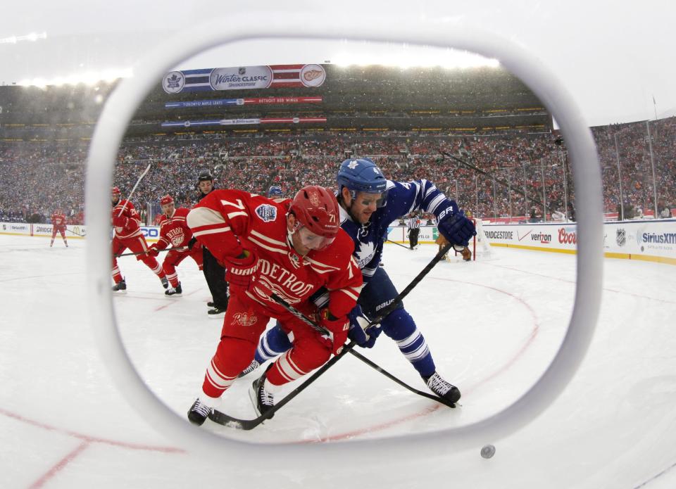
[[[31,32],[46,32],[47,38],[1,42],[0,84],[123,70],[186,27],[234,11],[255,11],[264,23],[280,8],[325,18],[340,11],[374,23],[383,11],[404,18],[460,18],[513,39],[541,58],[568,87],[589,125],[645,120],[654,118],[656,111],[659,117],[676,113],[676,3],[667,0],[4,2],[0,39]],[[251,42],[228,58],[228,64],[323,62],[349,54],[350,46]],[[260,59],[263,52],[266,61]],[[201,58],[193,68],[221,65],[218,60],[205,65],[208,61]]]

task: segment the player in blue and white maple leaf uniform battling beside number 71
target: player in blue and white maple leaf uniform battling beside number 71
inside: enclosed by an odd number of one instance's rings
[[[437,217],[439,233],[450,243],[461,246],[467,246],[468,240],[475,234],[474,224],[465,217],[455,201],[446,198],[432,182],[425,179],[406,183],[389,181],[368,158],[345,160],[340,165],[337,182],[341,227],[354,242],[354,258],[364,280],[358,305],[350,314],[350,338],[364,348],[371,348],[380,332],[384,331],[396,342],[432,392],[450,402],[457,402],[460,390],[437,373],[425,337],[403,303],[384,317],[380,325],[371,327],[368,336],[362,326],[368,324],[365,317],[378,317],[379,311],[397,296],[392,280],[379,266],[387,227],[391,222],[416,210],[432,213]],[[314,300],[321,305],[328,300],[328,294],[319,291]],[[275,326],[261,336],[256,358],[242,374],[255,370],[289,348],[289,338]]]

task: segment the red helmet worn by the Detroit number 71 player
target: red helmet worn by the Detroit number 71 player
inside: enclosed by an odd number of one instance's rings
[[[306,227],[308,231],[325,238],[323,246],[333,241],[340,229],[338,201],[333,192],[323,186],[304,186],[291,203],[289,212]]]

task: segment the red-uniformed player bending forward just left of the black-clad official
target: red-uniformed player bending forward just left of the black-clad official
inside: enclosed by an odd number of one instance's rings
[[[174,199],[171,196],[164,196],[160,199],[163,215],[160,223],[160,239],[157,243],[150,246],[148,254],[157,256],[159,250],[164,250],[168,246],[174,248],[167,253],[162,263],[163,272],[169,279],[170,287],[164,292],[167,296],[180,294],[183,292],[181,283],[178,281],[176,267],[184,258],[190,256],[197,263],[199,269],[202,269],[202,247],[195,244],[192,249],[188,249],[188,243],[192,239],[192,231],[185,222],[185,218],[190,212],[189,209],[180,207],[175,208]],[[176,248],[184,247],[184,250]]]

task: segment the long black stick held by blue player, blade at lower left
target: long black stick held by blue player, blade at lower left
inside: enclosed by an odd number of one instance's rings
[[[390,312],[394,310],[395,307],[397,307],[401,301],[403,300],[404,297],[408,296],[408,293],[413,290],[413,288],[418,285],[418,283],[427,275],[432,268],[434,268],[434,265],[437,265],[437,263],[442,260],[444,255],[451,249],[451,244],[447,243],[441,250],[439,250],[439,253],[432,258],[432,261],[430,261],[425,268],[423,268],[422,271],[418,275],[415,276],[415,278],[411,281],[411,284],[408,284],[406,288],[403,289],[399,293],[396,298],[392,301],[390,305],[384,308],[383,312],[375,318],[373,321],[371,321],[368,326],[366,326],[366,329],[368,329],[370,326],[373,326],[374,324],[378,324],[382,321],[384,317],[389,315]],[[275,300],[273,298],[273,300]],[[276,301],[276,300],[275,300]],[[299,312],[300,314],[300,312]],[[303,316],[304,317],[304,316]],[[303,319],[304,320],[304,319]],[[343,350],[338,354],[335,355],[331,360],[326,362],[325,364],[322,365],[317,371],[315,371],[314,374],[312,374],[308,379],[303,382],[300,386],[292,390],[290,393],[288,393],[280,402],[277,402],[273,407],[270,408],[268,412],[265,414],[261,414],[261,416],[253,419],[238,419],[234,418],[232,416],[229,416],[228,414],[225,414],[224,412],[218,411],[218,409],[211,409],[211,412],[209,412],[209,419],[211,421],[217,423],[217,424],[223,424],[225,426],[230,426],[232,428],[237,428],[237,429],[242,429],[242,430],[251,430],[253,428],[256,428],[259,424],[261,424],[265,419],[269,419],[270,417],[275,414],[282,406],[286,405],[287,402],[292,400],[293,398],[296,397],[296,395],[299,395],[306,387],[308,387],[311,383],[313,383],[319,376],[321,376],[327,369],[330,369],[334,363],[336,363],[338,360],[340,360],[342,357],[344,357],[347,353],[351,352],[352,349],[356,346],[356,343],[354,341],[350,341],[347,345],[343,347]],[[368,363],[368,362],[367,362]],[[378,367],[380,368],[380,367]],[[383,371],[384,372],[384,371]],[[394,376],[392,376],[394,377]],[[412,389],[412,388],[409,388]],[[415,389],[413,389],[415,391]],[[417,391],[420,392],[420,391]],[[429,397],[430,394],[427,393],[421,393],[425,395],[425,397]],[[441,400],[441,398],[436,398],[433,396],[434,400],[437,400],[439,402],[442,402],[443,404],[446,404],[444,400]]]

